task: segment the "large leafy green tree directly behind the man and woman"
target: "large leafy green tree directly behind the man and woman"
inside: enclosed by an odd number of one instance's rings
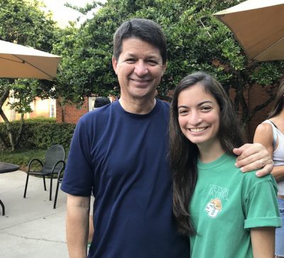
[[[283,76],[283,62],[249,63],[239,43],[224,24],[212,14],[239,4],[239,0],[109,0],[92,19],[72,36],[72,50],[66,41],[58,43],[62,71],[58,92],[65,101],[82,103],[86,96],[119,95],[119,84],[111,67],[112,37],[116,28],[129,18],[150,18],[162,26],[168,40],[168,68],[159,94],[169,99],[180,79],[190,72],[205,70],[232,90],[244,127],[269,99],[249,112],[244,92],[253,84],[275,85]],[[70,37],[70,36],[69,36]],[[68,41],[70,43],[70,41]],[[68,91],[66,91],[66,85]]]

